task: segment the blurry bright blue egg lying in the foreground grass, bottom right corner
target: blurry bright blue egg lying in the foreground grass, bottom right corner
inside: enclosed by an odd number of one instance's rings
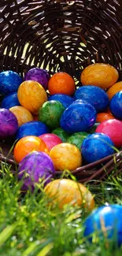
[[[86,221],[83,223],[84,236],[91,236],[89,241],[92,241],[93,233],[102,239],[112,239],[113,243],[122,243],[122,206],[109,205],[101,206],[94,210]]]

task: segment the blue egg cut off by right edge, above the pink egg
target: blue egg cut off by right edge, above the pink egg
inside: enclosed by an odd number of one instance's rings
[[[109,109],[114,117],[122,120],[122,91],[113,96],[109,103]]]

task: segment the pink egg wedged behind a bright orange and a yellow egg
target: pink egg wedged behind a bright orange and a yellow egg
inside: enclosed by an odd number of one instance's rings
[[[51,150],[57,144],[62,143],[62,140],[57,135],[52,133],[40,135],[39,138],[42,139],[44,143],[46,143],[48,150]]]

